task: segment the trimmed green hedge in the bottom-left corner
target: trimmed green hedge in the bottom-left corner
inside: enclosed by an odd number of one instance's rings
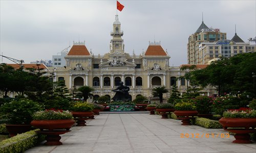
[[[1,141],[0,152],[24,152],[25,150],[32,148],[45,138],[44,136],[37,134],[35,131],[38,131],[38,129],[18,134],[14,137]]]

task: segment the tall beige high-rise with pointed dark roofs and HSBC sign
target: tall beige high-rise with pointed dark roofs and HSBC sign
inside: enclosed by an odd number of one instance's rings
[[[202,21],[198,30],[188,38],[187,63],[210,64],[220,57],[255,51],[255,44],[244,42],[237,33],[231,40],[227,40],[226,33],[220,32],[220,29],[208,28]]]

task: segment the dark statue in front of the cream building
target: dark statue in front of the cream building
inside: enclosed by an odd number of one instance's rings
[[[114,92],[116,92],[116,94],[114,95],[114,97],[112,98],[114,101],[132,101],[130,95],[129,95],[129,90],[130,88],[127,86],[123,85],[123,82],[119,83],[120,85],[112,90]]]

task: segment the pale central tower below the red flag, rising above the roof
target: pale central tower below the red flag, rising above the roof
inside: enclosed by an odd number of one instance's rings
[[[111,31],[113,37],[110,42],[110,54],[124,54],[123,31],[121,31],[121,23],[118,20],[118,15],[113,23],[113,31]]]

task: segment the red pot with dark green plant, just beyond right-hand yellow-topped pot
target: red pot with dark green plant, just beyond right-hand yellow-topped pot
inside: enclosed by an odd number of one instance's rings
[[[158,104],[156,106],[156,111],[159,112],[162,115],[162,118],[168,118],[168,114],[170,112],[174,112],[174,105],[170,104],[170,103],[162,103],[162,104]]]

